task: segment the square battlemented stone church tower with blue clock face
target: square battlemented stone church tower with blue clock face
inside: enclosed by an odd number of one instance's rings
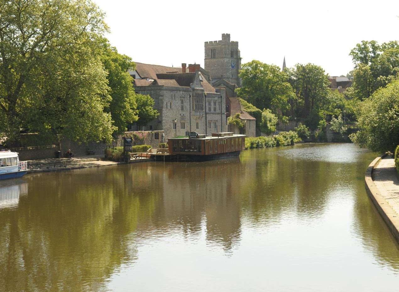
[[[230,41],[230,34],[222,34],[221,41],[205,41],[205,70],[211,79],[225,79],[240,86],[238,71],[241,67],[238,41]]]

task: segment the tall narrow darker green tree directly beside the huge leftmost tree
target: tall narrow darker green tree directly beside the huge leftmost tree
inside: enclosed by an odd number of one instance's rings
[[[104,44],[102,62],[107,71],[109,94],[111,101],[105,107],[105,112],[111,113],[113,124],[117,132],[126,131],[127,124],[136,122],[136,93],[132,84],[132,77],[127,72],[129,68],[135,68],[132,59],[118,53],[115,47]]]

